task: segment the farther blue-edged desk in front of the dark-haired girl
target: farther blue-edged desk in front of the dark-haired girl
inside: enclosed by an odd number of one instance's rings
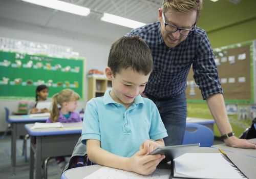
[[[11,164],[13,167],[13,174],[15,174],[16,167],[16,142],[17,137],[28,134],[24,125],[35,122],[45,122],[48,117],[30,117],[29,115],[10,115],[9,122],[11,124]]]

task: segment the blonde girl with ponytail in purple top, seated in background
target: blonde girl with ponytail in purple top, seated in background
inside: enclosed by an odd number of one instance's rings
[[[60,93],[55,94],[52,97],[52,110],[50,111],[50,118],[46,121],[50,122],[81,122],[79,112],[75,111],[77,107],[77,101],[80,96],[72,89],[63,89]],[[60,105],[60,108],[58,108]],[[66,165],[64,156],[56,158],[56,162],[61,169]]]

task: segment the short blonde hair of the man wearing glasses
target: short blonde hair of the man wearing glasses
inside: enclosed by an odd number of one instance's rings
[[[196,10],[198,18],[203,8],[203,0],[164,0],[162,10],[167,12],[171,8],[185,13]]]

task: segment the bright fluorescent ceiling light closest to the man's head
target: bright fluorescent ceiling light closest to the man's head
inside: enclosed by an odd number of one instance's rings
[[[129,18],[124,18],[124,17],[120,17],[117,15],[112,15],[108,13],[104,13],[103,17],[101,17],[100,20],[106,21],[108,23],[117,24],[120,26],[130,27],[132,29],[145,25],[144,23],[140,23],[138,21],[131,20]]]

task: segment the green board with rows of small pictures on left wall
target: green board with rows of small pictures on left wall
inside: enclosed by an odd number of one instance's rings
[[[34,99],[39,84],[49,97],[71,88],[83,99],[84,59],[0,51],[0,99]]]

